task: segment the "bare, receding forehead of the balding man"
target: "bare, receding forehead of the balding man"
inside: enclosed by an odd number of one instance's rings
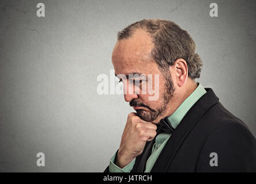
[[[152,48],[151,38],[142,29],[135,31],[129,39],[117,41],[112,52],[116,74],[152,72],[152,67],[157,67],[151,57]]]

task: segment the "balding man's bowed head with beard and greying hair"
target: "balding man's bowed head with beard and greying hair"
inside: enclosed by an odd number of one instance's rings
[[[129,78],[122,79],[125,101],[135,107],[140,118],[155,123],[178,108],[202,68],[193,39],[186,30],[167,20],[141,20],[118,32],[112,63],[116,75],[146,75],[146,81],[142,79],[138,86],[129,83]],[[148,77],[150,74],[153,78]],[[157,85],[156,75],[159,76]],[[131,85],[141,92],[143,82],[159,91],[158,99],[150,101],[152,94],[137,93],[136,90],[127,93]]]

